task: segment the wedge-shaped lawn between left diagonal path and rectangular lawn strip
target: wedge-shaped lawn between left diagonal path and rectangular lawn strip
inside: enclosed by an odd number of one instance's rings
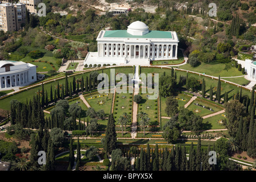
[[[107,94],[92,94],[91,96],[85,96],[89,105],[93,107],[94,110],[98,111],[103,109],[105,113],[110,113],[111,105],[113,101],[113,93]]]

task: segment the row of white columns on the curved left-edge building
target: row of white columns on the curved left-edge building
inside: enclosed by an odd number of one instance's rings
[[[28,82],[28,71],[0,76],[0,88],[11,88],[24,85]]]

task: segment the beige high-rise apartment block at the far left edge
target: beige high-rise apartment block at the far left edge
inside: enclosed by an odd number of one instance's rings
[[[26,5],[22,3],[0,4],[0,30],[18,31],[26,19]]]

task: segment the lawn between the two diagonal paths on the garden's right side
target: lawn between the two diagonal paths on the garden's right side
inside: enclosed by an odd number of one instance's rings
[[[195,105],[195,104],[200,104],[200,105],[203,105],[203,106],[210,107],[210,108],[212,108],[213,111],[210,111],[210,110],[208,110],[204,107],[201,107],[201,106]],[[187,109],[193,111],[196,115],[200,115],[201,117],[203,117],[204,115],[216,113],[217,111],[221,110],[217,107],[214,107],[211,104],[205,104],[205,102],[200,102],[199,100],[193,101],[191,103],[191,105],[189,105],[187,107]]]

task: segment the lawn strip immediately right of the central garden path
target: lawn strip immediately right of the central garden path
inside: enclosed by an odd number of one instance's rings
[[[149,100],[147,98],[148,95],[153,94],[141,93],[142,101],[138,105],[138,113],[139,111],[143,111],[144,113],[148,114],[150,122],[158,122],[158,100]]]

